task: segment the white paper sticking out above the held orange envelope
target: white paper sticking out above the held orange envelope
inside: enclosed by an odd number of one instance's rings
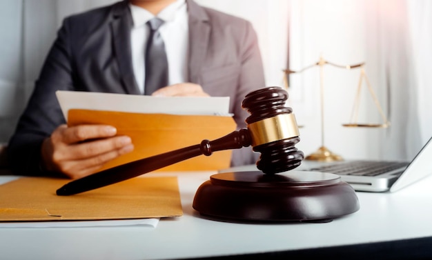
[[[137,94],[57,90],[65,119],[70,109],[161,114],[228,115],[229,97],[152,97]]]

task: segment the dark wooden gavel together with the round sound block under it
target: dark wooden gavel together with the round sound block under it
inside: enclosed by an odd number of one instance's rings
[[[304,159],[288,93],[279,87],[250,92],[242,108],[247,128],[214,141],[158,154],[70,181],[57,190],[66,196],[125,181],[199,155],[252,146],[260,171],[213,174],[195,193],[193,208],[213,219],[232,221],[328,222],[359,210],[357,195],[336,174],[293,171]],[[119,174],[121,172],[121,174]]]

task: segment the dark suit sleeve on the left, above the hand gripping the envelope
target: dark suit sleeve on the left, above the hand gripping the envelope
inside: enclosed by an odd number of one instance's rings
[[[55,91],[72,88],[71,63],[68,25],[65,20],[43,64],[27,107],[8,143],[8,159],[15,174],[56,174],[43,172],[39,167],[41,144],[57,126],[65,123]]]

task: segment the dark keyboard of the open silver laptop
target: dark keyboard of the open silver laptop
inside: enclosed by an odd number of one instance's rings
[[[363,175],[363,176],[377,176],[392,170],[402,168],[401,173],[409,163],[396,162],[396,161],[346,161],[343,163],[332,163],[325,166],[310,168],[310,171],[316,172],[330,172],[340,175]]]

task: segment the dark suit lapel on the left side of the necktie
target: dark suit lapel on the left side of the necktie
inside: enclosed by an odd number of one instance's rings
[[[114,37],[115,56],[119,63],[124,89],[128,94],[140,94],[132,68],[130,30],[133,22],[128,10],[128,1],[118,3],[114,7],[113,17],[111,30]]]

